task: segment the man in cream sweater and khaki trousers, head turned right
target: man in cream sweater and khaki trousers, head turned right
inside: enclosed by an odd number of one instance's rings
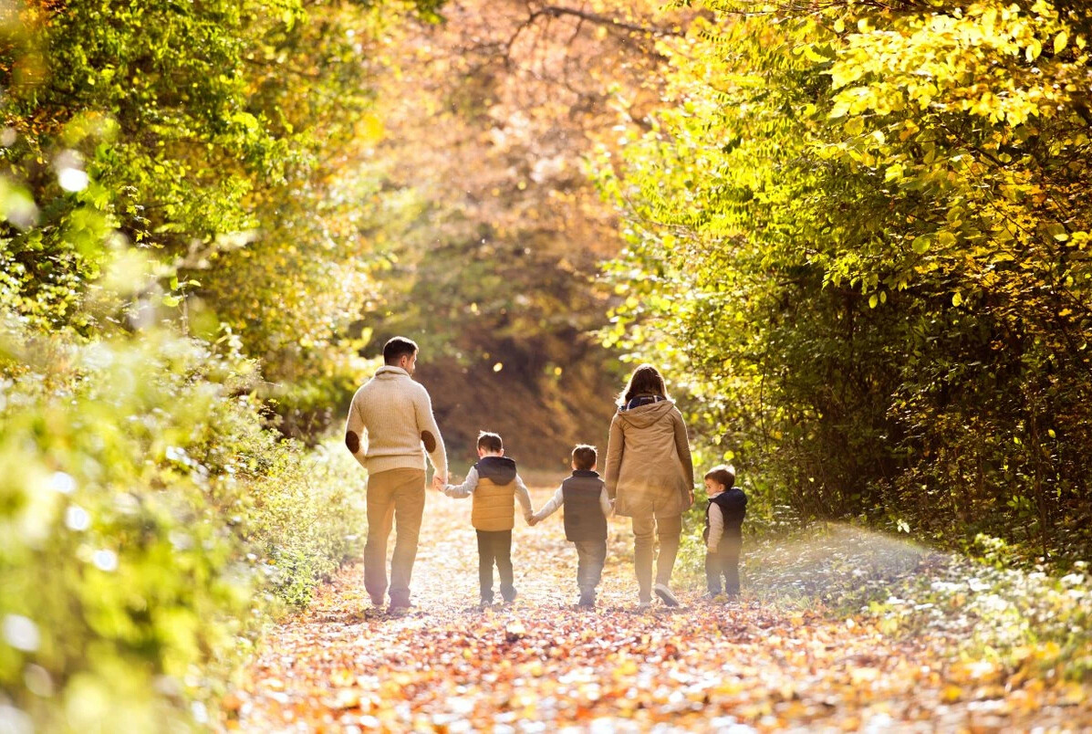
[[[410,577],[425,512],[425,453],[436,470],[432,483],[437,487],[448,481],[448,458],[428,391],[412,379],[417,345],[395,336],[383,345],[383,362],[376,376],[353,395],[345,446],[368,470],[364,587],[371,603],[381,606],[387,591],[387,538],[393,521],[397,536],[391,559],[389,611],[404,614],[410,608]]]

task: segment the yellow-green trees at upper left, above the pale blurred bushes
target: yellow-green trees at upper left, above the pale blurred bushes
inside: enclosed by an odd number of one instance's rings
[[[10,303],[83,335],[145,325],[149,304],[200,338],[227,324],[285,433],[321,430],[365,366],[368,332],[348,325],[404,205],[369,163],[384,133],[376,39],[436,5],[7,7],[0,165],[36,225],[4,237]],[[154,267],[99,308],[94,284],[120,250]]]

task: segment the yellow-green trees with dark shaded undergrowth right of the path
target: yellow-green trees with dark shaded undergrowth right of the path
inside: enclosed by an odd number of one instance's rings
[[[600,166],[605,343],[804,518],[1085,554],[1090,10],[703,4]]]

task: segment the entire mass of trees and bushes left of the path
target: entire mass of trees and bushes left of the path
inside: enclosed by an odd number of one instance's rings
[[[359,467],[275,411],[368,366],[371,43],[437,10],[0,4],[0,727],[210,722],[358,552]]]

